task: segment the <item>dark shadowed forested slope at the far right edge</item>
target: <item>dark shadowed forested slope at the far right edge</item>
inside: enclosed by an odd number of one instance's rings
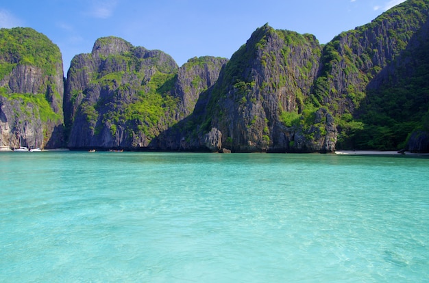
[[[356,118],[365,124],[364,131],[356,136],[358,146],[396,150],[407,147],[414,131],[429,133],[428,81],[429,21],[426,18],[406,48],[368,83],[367,96],[356,111]],[[419,150],[428,152],[429,148]]]

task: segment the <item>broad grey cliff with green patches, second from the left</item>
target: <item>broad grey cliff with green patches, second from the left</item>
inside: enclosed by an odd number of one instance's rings
[[[188,116],[225,59],[191,59],[178,68],[162,51],[100,38],[73,58],[64,113],[70,148],[153,148],[152,139]]]

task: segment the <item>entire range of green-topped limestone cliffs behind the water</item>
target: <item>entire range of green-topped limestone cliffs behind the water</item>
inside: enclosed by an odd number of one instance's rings
[[[0,29],[0,148],[429,152],[429,0],[328,44],[259,27],[230,59],[183,66],[114,36],[73,57]]]

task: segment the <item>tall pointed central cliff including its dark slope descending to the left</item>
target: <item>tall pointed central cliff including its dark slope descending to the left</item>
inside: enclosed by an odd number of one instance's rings
[[[233,152],[332,151],[336,129],[326,109],[317,111],[315,123],[305,129],[284,122],[304,112],[304,94],[310,92],[320,55],[314,36],[275,31],[268,25],[257,29],[221,70],[215,85],[199,96],[193,116],[162,137],[163,146]]]

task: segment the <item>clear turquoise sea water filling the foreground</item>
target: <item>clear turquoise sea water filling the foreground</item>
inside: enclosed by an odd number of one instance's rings
[[[1,152],[0,282],[429,282],[429,159]]]

